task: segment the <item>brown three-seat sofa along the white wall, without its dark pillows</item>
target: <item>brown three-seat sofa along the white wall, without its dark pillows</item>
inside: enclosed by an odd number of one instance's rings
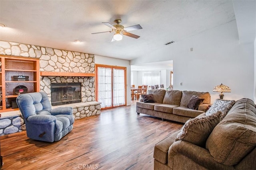
[[[152,94],[154,103],[144,103],[141,99],[136,103],[137,114],[143,113],[182,123],[204,113],[210,105],[211,98],[208,92],[180,90],[155,89],[148,90],[147,94]],[[198,110],[186,107],[193,95],[204,98],[203,103],[198,106]]]

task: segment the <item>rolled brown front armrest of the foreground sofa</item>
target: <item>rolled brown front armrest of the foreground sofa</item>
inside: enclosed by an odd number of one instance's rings
[[[209,150],[186,141],[176,141],[170,146],[168,152],[168,166],[171,169],[181,168],[180,166],[182,165],[174,164],[175,157],[180,157],[180,155],[194,162],[194,165],[190,165],[191,168],[199,165],[206,169],[234,169],[233,166],[227,166],[215,161]]]

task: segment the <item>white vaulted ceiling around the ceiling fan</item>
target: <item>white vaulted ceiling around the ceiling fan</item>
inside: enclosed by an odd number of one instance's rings
[[[111,42],[102,22],[140,24]],[[235,20],[231,0],[0,0],[0,40],[132,60]],[[75,39],[82,41],[74,43]]]

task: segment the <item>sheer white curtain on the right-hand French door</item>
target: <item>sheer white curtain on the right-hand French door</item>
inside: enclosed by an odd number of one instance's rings
[[[124,70],[113,69],[113,106],[125,104]]]

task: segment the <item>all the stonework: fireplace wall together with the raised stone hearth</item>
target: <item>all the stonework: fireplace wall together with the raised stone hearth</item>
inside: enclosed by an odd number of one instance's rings
[[[40,71],[66,72],[67,76],[41,76],[40,91],[46,92],[49,100],[51,100],[50,84],[52,82],[81,82],[82,102],[89,102],[91,104],[78,107],[73,106],[73,116],[75,119],[80,119],[100,114],[100,103],[95,102],[92,104],[95,101],[95,78],[68,76],[69,72],[94,73],[94,55],[7,41],[0,41],[0,54],[38,58],[40,59]],[[17,122],[18,119],[19,123]],[[4,122],[3,125],[1,121]],[[6,117],[0,119],[0,123],[0,127],[4,126],[0,128],[0,134],[8,134],[9,132],[21,131],[24,120],[21,116]]]

